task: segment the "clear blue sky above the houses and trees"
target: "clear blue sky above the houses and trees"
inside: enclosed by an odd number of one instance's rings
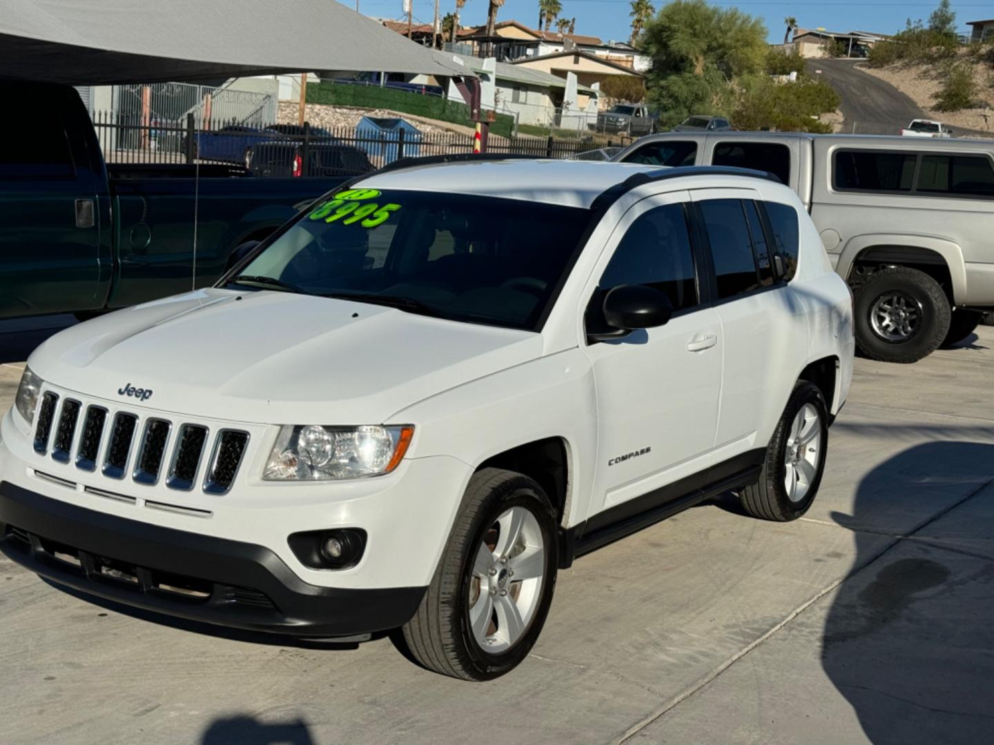
[[[611,39],[627,40],[631,34],[630,0],[560,0],[562,15],[577,19],[577,33],[598,36],[605,42]],[[355,2],[345,2],[355,7]],[[460,23],[482,24],[487,19],[487,0],[467,0]],[[665,3],[655,2],[656,8]],[[745,13],[759,16],[769,30],[769,41],[782,42],[783,19],[791,15],[803,28],[824,27],[829,31],[875,31],[894,33],[905,27],[905,20],[921,18],[938,4],[938,0],[718,0],[713,4],[735,6]],[[359,10],[369,16],[400,19],[404,13],[402,0],[359,0]],[[454,0],[439,0],[439,15],[455,9]],[[956,12],[956,27],[965,31],[967,21],[994,18],[994,2],[952,0]],[[414,0],[414,18],[431,23],[434,14],[433,0]],[[506,0],[497,13],[498,21],[516,20],[535,28],[538,25],[538,0]]]

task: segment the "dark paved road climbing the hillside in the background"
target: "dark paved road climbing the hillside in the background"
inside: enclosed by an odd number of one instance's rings
[[[808,70],[821,76],[835,88],[842,99],[839,108],[846,117],[843,132],[856,134],[900,134],[911,119],[927,114],[911,98],[879,77],[856,69],[865,61],[811,60]],[[854,130],[855,125],[855,130]]]

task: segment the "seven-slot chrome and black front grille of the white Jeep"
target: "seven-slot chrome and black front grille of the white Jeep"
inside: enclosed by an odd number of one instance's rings
[[[75,463],[81,471],[110,479],[130,478],[147,486],[163,479],[169,489],[190,492],[200,485],[207,494],[223,495],[231,490],[242,467],[248,432],[219,429],[215,435],[206,424],[113,411],[46,391],[38,406],[34,448],[41,455],[51,452],[56,461]],[[49,475],[48,470],[40,467],[36,473],[75,488],[72,474],[59,476],[54,471]]]

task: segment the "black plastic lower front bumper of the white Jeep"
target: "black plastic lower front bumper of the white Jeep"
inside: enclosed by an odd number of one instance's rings
[[[0,550],[60,584],[193,621],[299,637],[402,626],[426,588],[304,582],[268,548],[118,518],[0,482]]]

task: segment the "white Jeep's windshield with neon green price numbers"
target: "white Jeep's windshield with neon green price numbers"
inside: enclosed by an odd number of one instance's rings
[[[229,284],[537,329],[588,215],[524,200],[350,189],[291,225]]]

